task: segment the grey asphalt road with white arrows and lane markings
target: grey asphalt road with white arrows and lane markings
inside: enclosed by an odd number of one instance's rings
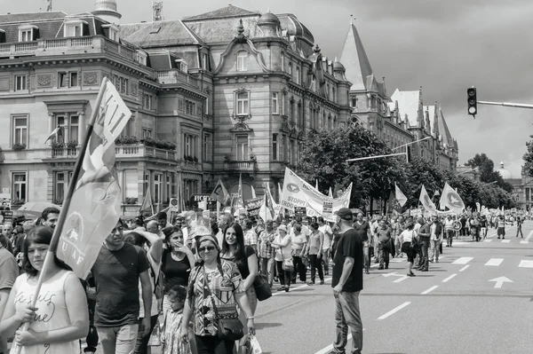
[[[532,353],[533,222],[523,225],[524,239],[515,232],[508,227],[505,242],[495,230],[481,242],[456,241],[414,278],[402,277],[405,258],[388,270],[374,266],[360,296],[363,353]],[[290,293],[275,292],[259,303],[256,323],[264,354],[328,353],[335,333],[330,277],[322,286],[298,282]]]

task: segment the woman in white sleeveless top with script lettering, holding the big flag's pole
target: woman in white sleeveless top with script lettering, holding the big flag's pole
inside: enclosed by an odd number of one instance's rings
[[[15,336],[12,353],[18,346],[22,346],[22,354],[76,353],[80,349],[78,340],[89,332],[84,287],[55,255],[46,270],[36,305],[31,304],[52,233],[52,228],[40,226],[28,234],[25,273],[15,280],[0,322],[0,336]],[[21,328],[25,322],[29,323],[28,330]]]

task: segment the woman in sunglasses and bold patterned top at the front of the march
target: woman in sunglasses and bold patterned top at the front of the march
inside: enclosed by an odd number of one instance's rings
[[[243,278],[235,263],[220,259],[219,242],[211,234],[197,236],[196,245],[201,261],[191,272],[183,323],[193,321],[198,354],[232,354],[235,341],[219,338],[216,314],[235,311],[236,315],[238,303],[247,319],[248,333],[255,334]],[[179,335],[189,340],[187,326],[181,326]]]

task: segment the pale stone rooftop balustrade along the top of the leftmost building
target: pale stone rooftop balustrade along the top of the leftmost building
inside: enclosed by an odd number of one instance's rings
[[[66,54],[96,54],[106,52],[113,53],[123,59],[136,61],[137,51],[116,43],[102,35],[38,39],[33,42],[0,44],[0,57],[50,57]]]

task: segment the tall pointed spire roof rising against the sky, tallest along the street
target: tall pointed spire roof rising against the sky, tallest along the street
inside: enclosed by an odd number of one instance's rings
[[[373,74],[373,70],[354,23],[350,24],[346,35],[340,62],[346,67],[346,78],[352,83],[351,90],[370,90],[367,77]]]

